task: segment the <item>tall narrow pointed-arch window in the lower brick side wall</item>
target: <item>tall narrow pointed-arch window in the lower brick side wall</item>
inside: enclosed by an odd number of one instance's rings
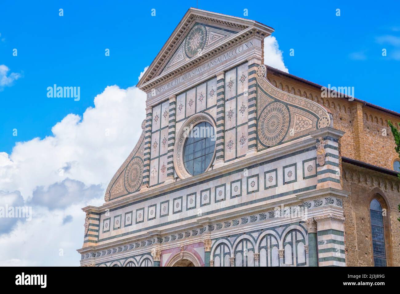
[[[370,203],[372,249],[374,266],[386,266],[385,233],[383,226],[382,206],[372,199]]]

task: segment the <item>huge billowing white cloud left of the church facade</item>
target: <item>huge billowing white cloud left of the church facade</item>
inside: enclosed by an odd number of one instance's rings
[[[145,101],[136,87],[108,86],[94,107],[82,117],[68,114],[51,136],[0,152],[0,191],[32,205],[31,221],[11,220],[0,232],[0,265],[79,265],[81,208],[104,203],[108,182],[142,132]]]

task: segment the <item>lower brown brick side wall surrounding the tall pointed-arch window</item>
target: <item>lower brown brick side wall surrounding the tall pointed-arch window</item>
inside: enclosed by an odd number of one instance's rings
[[[384,228],[388,266],[400,266],[399,184],[394,176],[343,164],[343,190],[351,193],[343,203],[347,266],[374,266],[369,210],[374,197],[378,197],[382,207],[386,208]]]

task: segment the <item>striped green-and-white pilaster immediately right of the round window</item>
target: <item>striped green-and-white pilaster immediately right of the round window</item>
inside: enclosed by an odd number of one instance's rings
[[[216,138],[216,157],[214,168],[224,165],[224,148],[225,148],[225,73],[217,74],[217,138]]]

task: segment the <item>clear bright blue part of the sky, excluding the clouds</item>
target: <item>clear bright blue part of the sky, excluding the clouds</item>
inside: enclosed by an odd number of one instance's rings
[[[398,1],[362,6],[272,1],[268,7],[265,1],[198,2],[198,8],[241,17],[247,8],[248,18],[272,26],[291,74],[324,86],[354,86],[357,98],[400,112],[393,91],[400,76]],[[106,86],[135,85],[196,1],[6,1],[1,6],[0,64],[21,75],[0,92],[0,152],[10,153],[18,141],[51,135],[67,114],[82,114]],[[18,56],[12,56],[13,48]],[[289,56],[290,48],[295,56]],[[388,56],[382,56],[382,48]],[[80,101],[48,98],[46,88],[53,84],[80,86]],[[12,136],[14,128],[18,136]]]

